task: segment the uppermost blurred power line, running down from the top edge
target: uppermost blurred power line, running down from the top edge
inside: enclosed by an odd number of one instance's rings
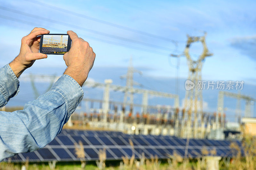
[[[71,14],[71,15],[74,15],[74,16],[77,16],[77,17],[85,18],[85,19],[88,19],[88,20],[91,20],[91,21],[94,21],[94,22],[98,22],[98,23],[101,23],[101,24],[113,26],[113,27],[116,27],[116,28],[119,28],[119,29],[139,33],[139,34],[142,34],[142,35],[146,35],[148,37],[153,37],[153,38],[156,38],[156,39],[162,39],[162,40],[165,40],[165,41],[171,41],[172,43],[177,42],[176,40],[173,40],[173,39],[169,39],[169,38],[162,37],[162,36],[155,35],[155,34],[151,34],[151,33],[148,33],[148,32],[136,30],[136,29],[129,28],[129,27],[126,27],[126,26],[123,26],[123,25],[108,22],[108,21],[105,21],[105,20],[102,20],[102,19],[90,17],[90,16],[87,16],[87,15],[84,15],[84,14],[81,14],[81,13],[70,11],[70,10],[60,8],[60,7],[57,7],[57,6],[54,6],[54,5],[46,4],[46,3],[43,3],[43,2],[40,2],[40,1],[36,1],[36,0],[33,0],[33,1],[32,0],[25,0],[25,1],[28,1],[28,2],[36,4],[36,5],[43,5],[44,7],[48,7],[48,8],[51,8],[53,10],[56,10],[56,11],[61,11],[61,12],[67,11],[68,14]]]

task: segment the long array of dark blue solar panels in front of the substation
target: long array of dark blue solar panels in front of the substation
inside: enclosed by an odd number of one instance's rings
[[[202,149],[216,150],[216,155],[221,157],[232,157],[229,147],[230,142],[225,140],[187,139],[174,136],[153,135],[127,135],[114,131],[78,131],[62,130],[53,141],[44,148],[35,152],[19,153],[12,157],[13,162],[25,161],[79,161],[76,158],[75,143],[81,141],[84,146],[86,160],[98,160],[100,149],[106,149],[107,160],[121,160],[122,156],[132,156],[132,140],[135,158],[139,159],[142,152],[146,158],[157,155],[159,159],[167,159],[174,152],[184,157],[187,149],[187,157],[196,158],[202,156]],[[238,145],[241,145],[238,142]],[[6,161],[6,160],[5,160]]]

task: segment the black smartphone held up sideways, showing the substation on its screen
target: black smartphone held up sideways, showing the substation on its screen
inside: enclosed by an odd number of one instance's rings
[[[40,39],[39,52],[64,55],[70,47],[71,39],[68,34],[43,34]]]

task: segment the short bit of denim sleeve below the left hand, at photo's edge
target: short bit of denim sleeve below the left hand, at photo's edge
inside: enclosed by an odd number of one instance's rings
[[[0,68],[0,107],[5,106],[19,91],[20,82],[9,64],[6,64]]]

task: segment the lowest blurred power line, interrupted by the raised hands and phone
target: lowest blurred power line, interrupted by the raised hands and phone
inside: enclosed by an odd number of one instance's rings
[[[33,27],[35,27],[35,25],[42,25],[42,24],[37,24],[37,23],[34,23],[34,22],[29,22],[29,21],[25,21],[25,20],[21,20],[21,19],[17,19],[17,18],[12,18],[12,17],[8,17],[8,16],[4,16],[4,15],[0,15],[0,18],[6,19],[6,20],[10,20],[10,21],[14,21],[14,22],[18,22],[18,23],[21,23],[21,24],[31,25]],[[64,30],[61,30],[61,29],[58,29],[58,28],[54,28],[54,27],[51,27],[51,26],[46,26],[46,25],[42,25],[42,26],[48,27],[48,28],[52,28],[52,29],[56,29],[56,30],[60,30],[60,31],[64,31]],[[148,53],[155,53],[155,54],[158,54],[158,55],[168,56],[168,53],[163,53],[163,52],[159,52],[159,51],[149,50],[149,49],[141,48],[141,47],[137,47],[137,46],[126,45],[126,44],[122,44],[122,43],[118,43],[118,42],[114,42],[114,41],[109,41],[109,40],[105,40],[105,39],[91,37],[91,36],[88,36],[88,35],[84,35],[84,36],[86,36],[86,38],[88,38],[88,39],[94,39],[96,41],[103,42],[103,43],[108,43],[108,44],[112,44],[112,45],[123,46],[123,47],[126,47],[126,48],[140,50],[140,51],[144,51],[144,52],[148,52]]]

